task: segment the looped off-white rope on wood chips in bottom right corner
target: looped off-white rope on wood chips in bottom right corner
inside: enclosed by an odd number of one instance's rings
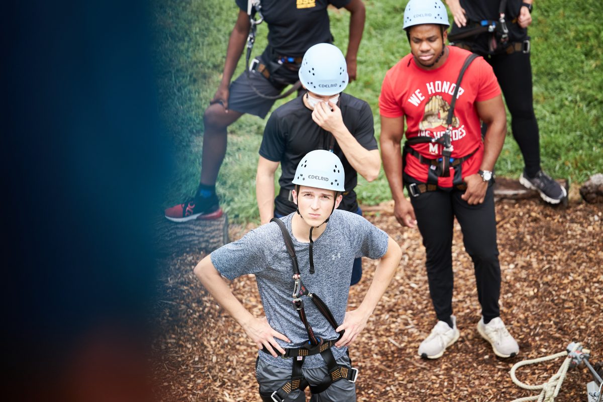
[[[578,344],[578,343],[574,344],[573,350],[571,352],[576,351],[579,347],[580,347],[580,344]],[[515,365],[513,365],[509,374],[511,375],[511,380],[513,380],[513,383],[515,385],[517,385],[523,389],[529,389],[530,391],[537,391],[538,389],[541,389],[542,391],[540,392],[540,395],[519,398],[519,399],[513,400],[511,402],[528,402],[528,401],[554,402],[555,398],[557,397],[557,395],[559,394],[559,391],[561,389],[561,384],[563,384],[563,380],[565,380],[565,377],[567,374],[567,369],[569,368],[569,364],[572,362],[572,357],[567,357],[561,364],[561,367],[557,371],[557,374],[552,375],[552,377],[549,378],[548,382],[542,383],[541,385],[528,385],[526,383],[522,383],[519,380],[517,380],[515,372],[517,371],[518,368],[520,368],[522,366],[527,366],[527,365],[541,363],[541,362],[547,362],[548,360],[554,360],[554,359],[557,359],[558,357],[567,356],[567,354],[568,354],[567,351],[563,351],[560,353],[551,354],[550,356],[538,357],[537,359],[523,360],[522,362],[519,362],[519,363],[516,363]]]

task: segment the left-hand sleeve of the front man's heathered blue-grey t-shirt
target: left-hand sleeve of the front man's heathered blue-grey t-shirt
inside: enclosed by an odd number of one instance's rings
[[[268,260],[262,238],[251,230],[236,242],[229,243],[210,254],[213,266],[229,280],[241,275],[257,274]]]

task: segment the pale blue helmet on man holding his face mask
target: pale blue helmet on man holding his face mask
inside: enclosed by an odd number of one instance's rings
[[[349,81],[346,58],[337,46],[318,43],[303,55],[299,76],[310,92],[335,95],[346,89]]]

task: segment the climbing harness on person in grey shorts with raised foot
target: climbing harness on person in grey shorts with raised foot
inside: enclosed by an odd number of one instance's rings
[[[258,17],[257,20],[254,18],[254,11]],[[248,81],[251,89],[253,89],[253,92],[255,92],[257,96],[260,96],[260,98],[264,98],[264,99],[286,98],[287,96],[291,95],[291,93],[300,89],[301,83],[299,80],[297,80],[297,82],[295,84],[293,84],[293,86],[291,86],[291,88],[286,90],[285,93],[282,93],[282,94],[276,95],[276,96],[269,96],[269,95],[264,95],[263,93],[260,93],[259,90],[257,90],[257,88],[251,82],[251,77],[250,77],[251,71],[259,72],[260,74],[264,75],[264,77],[271,83],[273,81],[270,78],[271,71],[266,64],[262,63],[262,61],[258,60],[257,58],[254,58],[253,61],[251,62],[251,64],[249,61],[251,58],[251,51],[253,50],[253,44],[256,42],[257,25],[262,24],[262,22],[264,21],[264,14],[262,14],[262,2],[260,0],[248,0],[247,15],[249,16],[249,23],[251,24],[251,28],[249,30],[249,35],[247,36],[247,52],[245,52],[245,66],[247,66],[247,69],[245,69],[245,76],[247,77],[247,81]],[[280,68],[280,66],[282,66],[283,64],[301,64],[301,57],[288,57],[288,56],[279,55],[279,56],[277,56],[276,61],[277,61],[277,64],[279,64],[279,68]]]

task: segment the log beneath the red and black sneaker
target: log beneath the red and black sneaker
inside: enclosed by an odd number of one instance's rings
[[[211,253],[229,243],[228,217],[218,219],[193,219],[172,222],[161,215],[157,217],[156,250],[160,254]]]

